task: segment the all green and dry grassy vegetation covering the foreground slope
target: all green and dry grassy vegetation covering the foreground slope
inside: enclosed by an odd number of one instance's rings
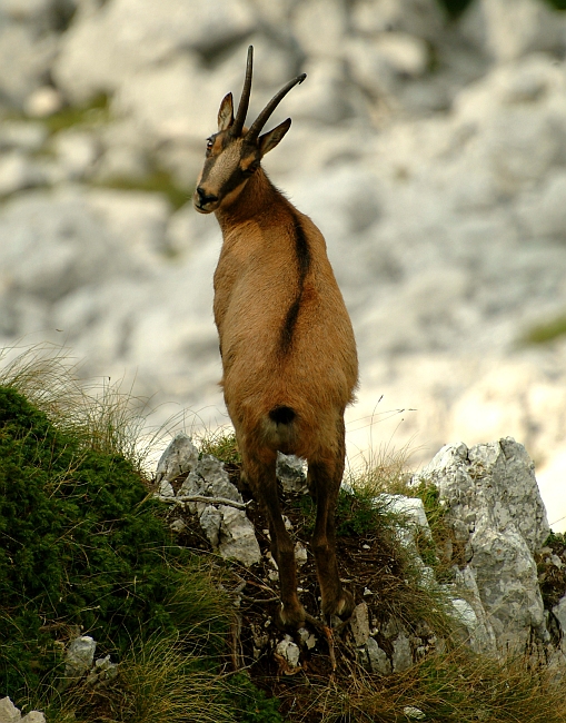
[[[110,384],[81,386],[61,355],[41,349],[0,370],[0,695],[43,710],[48,723],[393,723],[407,720],[407,706],[454,723],[566,720],[564,682],[529,661],[474,654],[454,634],[444,593],[420,581],[399,542],[403,515],[375,503],[379,492],[424,501],[433,539],[417,535],[416,543],[438,575],[449,541],[444,508],[434,485],[407,486],[405,453],[379,455],[350,475],[351,489],[338,501],[340,558],[364,590],[364,542],[374,623],[381,611],[407,630],[428,626],[436,653],[380,677],[355,662],[337,633],[330,679],[317,673],[316,657],[292,679],[274,668],[258,675],[252,664],[230,673],[236,618],[225,588],[235,568],[173,543],[143,475],[133,403]],[[238,468],[229,432],[199,446]],[[310,498],[287,511],[302,515],[292,517],[296,535],[308,533]],[[564,536],[547,545],[562,554]],[[113,679],[96,686],[66,680],[64,648],[78,634],[95,637],[97,658],[118,663]]]

